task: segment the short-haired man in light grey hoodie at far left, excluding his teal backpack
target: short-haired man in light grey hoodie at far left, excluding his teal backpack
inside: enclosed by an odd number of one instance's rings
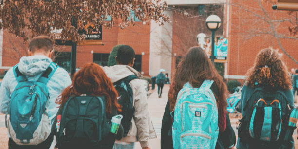
[[[52,59],[50,58],[53,53],[53,42],[49,37],[39,36],[31,40],[29,44],[29,56],[24,56],[19,61],[19,72],[25,75],[28,81],[37,81],[37,79],[49,67]],[[46,84],[49,90],[49,107],[48,116],[49,120],[53,123],[54,117],[58,111],[56,105],[56,98],[62,93],[64,88],[71,84],[70,76],[63,68],[58,67]],[[0,87],[0,112],[7,113],[10,95],[14,91],[18,82],[14,75],[13,68],[9,69],[4,76]],[[37,146],[19,146],[11,138],[9,139],[9,149],[49,149],[53,141],[53,135],[38,144]]]

